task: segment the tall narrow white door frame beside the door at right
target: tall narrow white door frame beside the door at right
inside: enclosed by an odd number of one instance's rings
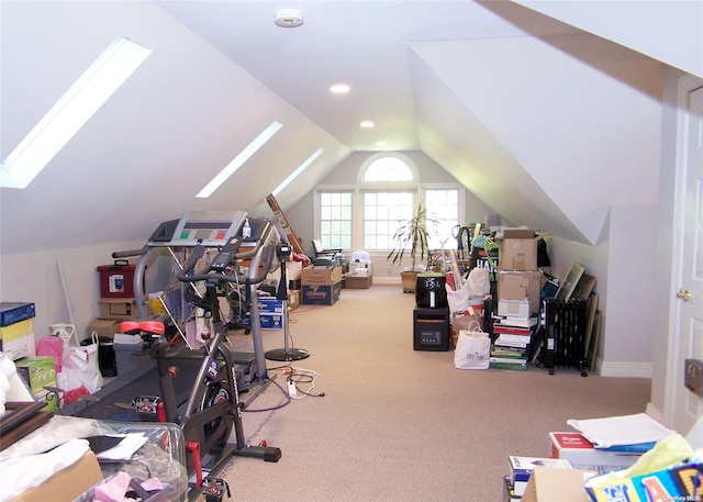
[[[667,424],[676,423],[677,388],[683,384],[683,361],[678,360],[681,338],[681,301],[677,292],[681,288],[683,274],[683,237],[685,231],[685,190],[687,190],[687,141],[689,122],[689,96],[703,86],[703,79],[691,75],[683,76],[678,81],[677,91],[677,145],[676,145],[676,181],[673,197],[673,221],[671,242],[671,276],[669,282],[669,323],[668,323],[668,354],[666,370],[666,395],[663,419]]]

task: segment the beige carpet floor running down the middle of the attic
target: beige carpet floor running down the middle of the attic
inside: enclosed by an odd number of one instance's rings
[[[639,413],[649,401],[648,379],[457,370],[451,352],[413,350],[414,305],[400,286],[373,286],[291,312],[292,346],[311,353],[292,366],[319,373],[310,393],[324,397],[289,402],[270,384],[249,404],[248,443],[282,458],[233,458],[221,472],[232,500],[501,501],[509,455],[547,456],[548,433],[571,430],[567,420]],[[266,349],[283,346],[281,331],[263,336]],[[243,332],[231,339],[250,344]],[[284,386],[280,366],[269,361],[269,373]]]

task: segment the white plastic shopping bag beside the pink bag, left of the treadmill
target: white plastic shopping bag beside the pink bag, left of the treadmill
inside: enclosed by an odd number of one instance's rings
[[[91,344],[66,347],[62,357],[58,387],[65,391],[83,386],[92,394],[102,388],[102,375],[98,364],[98,333],[92,332]]]

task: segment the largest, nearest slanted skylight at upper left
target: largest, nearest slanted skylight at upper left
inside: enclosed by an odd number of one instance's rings
[[[26,188],[152,54],[118,37],[0,165],[0,187]]]

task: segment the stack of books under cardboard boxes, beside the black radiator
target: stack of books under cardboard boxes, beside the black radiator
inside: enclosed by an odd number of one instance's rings
[[[494,316],[490,367],[526,370],[529,359],[529,341],[536,326],[536,316]]]

